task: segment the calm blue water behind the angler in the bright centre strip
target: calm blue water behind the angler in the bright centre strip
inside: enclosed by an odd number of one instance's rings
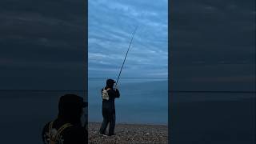
[[[165,79],[120,79],[116,98],[116,120],[125,123],[167,124],[168,82]],[[100,90],[105,78],[89,80],[89,122],[102,122]]]

